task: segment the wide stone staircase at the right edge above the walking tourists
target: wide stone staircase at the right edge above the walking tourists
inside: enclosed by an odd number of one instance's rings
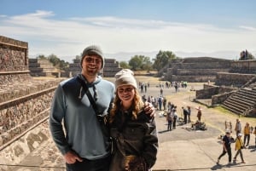
[[[239,115],[247,116],[247,111],[256,105],[256,89],[240,88],[224,101],[223,107]]]

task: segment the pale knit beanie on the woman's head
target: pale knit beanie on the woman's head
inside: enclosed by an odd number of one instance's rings
[[[129,69],[123,69],[117,72],[114,77],[116,78],[115,88],[118,88],[121,85],[132,85],[134,88],[137,88],[137,81],[134,77],[134,73]]]

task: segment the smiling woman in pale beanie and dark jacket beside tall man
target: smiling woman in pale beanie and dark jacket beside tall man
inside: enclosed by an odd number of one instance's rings
[[[154,118],[143,111],[133,72],[116,75],[116,96],[110,111],[110,135],[113,139],[111,171],[150,170],[156,161],[158,138]]]

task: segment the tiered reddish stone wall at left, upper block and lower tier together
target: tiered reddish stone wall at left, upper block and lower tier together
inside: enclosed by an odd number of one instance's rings
[[[34,79],[28,44],[0,36],[0,151],[49,117],[61,79]]]

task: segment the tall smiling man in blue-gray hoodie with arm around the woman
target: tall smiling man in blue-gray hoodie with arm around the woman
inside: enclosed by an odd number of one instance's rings
[[[115,88],[98,76],[104,66],[101,48],[84,48],[80,64],[81,74],[61,82],[55,90],[49,115],[50,132],[67,171],[108,171],[111,143],[98,114],[108,116]],[[144,110],[154,113],[152,105]]]

